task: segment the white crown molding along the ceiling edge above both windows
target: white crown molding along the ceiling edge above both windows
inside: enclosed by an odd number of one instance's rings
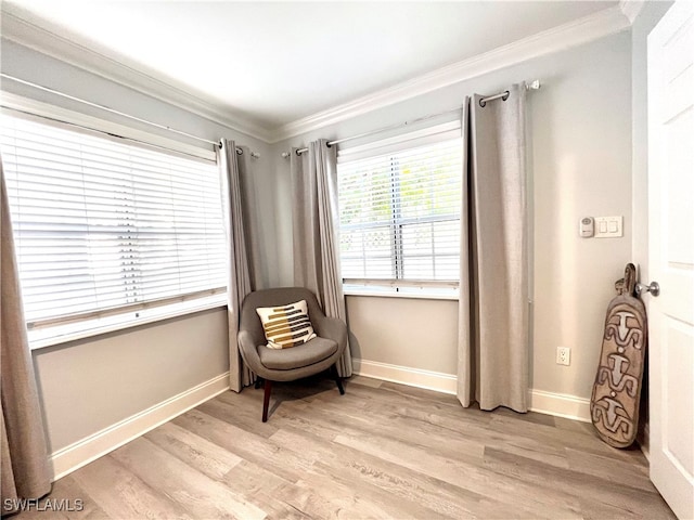
[[[516,63],[626,30],[631,26],[643,4],[644,0],[620,0],[619,4],[613,8],[277,128],[264,127],[234,113],[229,106],[194,95],[187,91],[184,86],[172,84],[171,78],[159,76],[152,70],[145,73],[139,69],[140,66],[137,64],[128,65],[110,57],[106,55],[106,50],[98,52],[61,36],[56,30],[50,30],[35,23],[30,13],[25,13],[22,9],[16,9],[7,2],[2,5],[2,38],[271,144]]]

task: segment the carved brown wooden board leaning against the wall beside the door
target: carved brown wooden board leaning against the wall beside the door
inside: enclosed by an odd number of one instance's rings
[[[627,265],[621,294],[607,307],[603,349],[590,400],[593,425],[611,446],[637,438],[641,381],[646,353],[646,310],[632,295],[635,268]]]

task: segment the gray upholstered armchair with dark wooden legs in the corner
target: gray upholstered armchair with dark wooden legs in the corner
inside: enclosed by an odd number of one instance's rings
[[[308,316],[316,338],[290,349],[269,349],[262,323],[256,313],[259,307],[280,307],[306,300]],[[318,304],[316,295],[304,287],[282,287],[250,292],[241,307],[239,348],[248,367],[265,381],[262,421],[268,420],[268,404],[272,381],[293,381],[331,370],[340,394],[345,393],[335,363],[347,346],[347,325],[342,320],[327,317]]]

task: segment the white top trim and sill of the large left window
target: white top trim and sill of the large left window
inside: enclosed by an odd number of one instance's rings
[[[108,132],[142,143],[149,143],[155,148],[164,147],[171,151],[178,151],[185,156],[194,156],[208,161],[216,161],[217,159],[216,153],[209,148],[203,148],[198,145],[171,140],[133,127],[119,125],[8,92],[2,92],[2,105],[3,115],[16,117],[17,115],[24,114],[23,117],[42,123],[50,123],[50,119],[53,119],[55,121],[61,121],[56,122],[57,126],[62,126],[67,129],[69,129],[70,125],[91,128],[95,131]],[[174,154],[175,152],[170,153]],[[207,296],[201,296],[195,299],[183,299],[182,301],[177,302],[157,302],[156,300],[153,300],[139,306],[137,309],[133,308],[131,311],[124,309],[123,312],[117,313],[108,311],[101,313],[94,312],[92,317],[85,317],[75,322],[64,320],[53,326],[38,327],[27,330],[29,348],[31,350],[37,350],[111,332],[156,323],[172,317],[184,316],[210,309],[226,308],[227,299],[228,296],[226,290],[210,290]]]

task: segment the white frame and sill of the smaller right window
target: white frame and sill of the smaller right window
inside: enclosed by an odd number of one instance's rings
[[[356,146],[340,145],[337,152],[337,161],[340,164],[376,155],[387,155],[389,153],[397,153],[426,144],[435,144],[460,138],[460,120],[453,120]],[[460,216],[451,217],[460,219]],[[451,218],[445,218],[445,216],[437,216],[435,218],[435,221],[447,220],[451,220]],[[403,221],[394,221],[396,226],[402,223]],[[382,224],[380,223],[364,223],[356,224],[354,227],[369,229],[381,226]],[[394,240],[395,244],[397,244],[397,239]],[[395,269],[398,269],[397,265]],[[346,296],[458,300],[459,287],[460,281],[402,280],[398,277],[397,272],[394,273],[394,280],[343,278],[343,291]]]

